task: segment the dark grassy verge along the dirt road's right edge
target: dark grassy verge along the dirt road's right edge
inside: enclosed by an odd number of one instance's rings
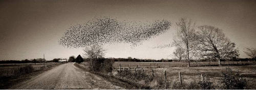
[[[150,89],[146,86],[140,85],[138,83],[129,81],[129,80],[125,80],[119,77],[115,77],[113,75],[108,75],[108,74],[102,74],[102,73],[98,73],[98,72],[92,72],[90,71],[88,68],[84,67],[84,65],[79,65],[77,63],[74,64],[74,66],[76,66],[77,68],[83,69],[84,71],[90,72],[92,74],[98,75],[102,78],[104,78],[105,80],[111,82],[114,85],[118,85],[121,86],[125,89]]]

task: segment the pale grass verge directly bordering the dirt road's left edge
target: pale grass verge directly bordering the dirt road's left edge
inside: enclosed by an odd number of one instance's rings
[[[45,68],[39,71],[31,72],[28,74],[23,74],[18,77],[1,77],[0,78],[0,89],[8,89],[11,86],[23,82],[25,80],[31,79],[32,77],[39,75],[45,71],[51,70],[54,67]]]

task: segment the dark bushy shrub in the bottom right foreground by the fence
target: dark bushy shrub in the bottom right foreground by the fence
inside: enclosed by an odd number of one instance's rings
[[[244,89],[246,81],[238,72],[232,72],[229,67],[226,71],[221,72],[222,89]]]

